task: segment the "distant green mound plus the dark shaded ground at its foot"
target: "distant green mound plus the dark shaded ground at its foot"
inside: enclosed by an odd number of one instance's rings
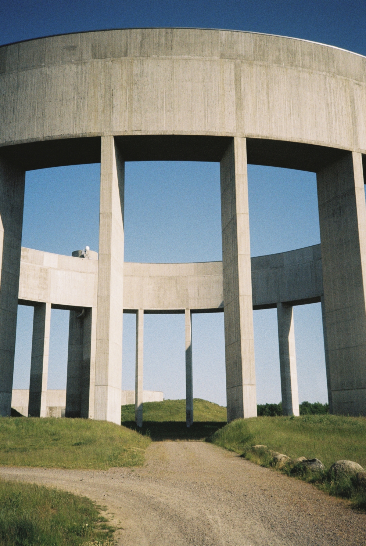
[[[122,406],[121,410],[124,426],[139,430],[154,441],[205,440],[226,424],[226,408],[200,398],[193,400],[194,423],[189,428],[185,424],[185,400],[145,402],[141,429],[134,423],[134,405]]]

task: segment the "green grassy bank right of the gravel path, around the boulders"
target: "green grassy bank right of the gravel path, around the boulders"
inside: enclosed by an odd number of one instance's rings
[[[291,459],[320,459],[321,472],[311,472],[290,461],[281,471],[317,485],[330,495],[349,498],[356,508],[366,509],[366,490],[355,476],[336,477],[333,462],[346,459],[366,469],[366,418],[334,415],[257,417],[237,419],[216,431],[210,441],[262,466],[273,466],[271,450]],[[253,449],[264,445],[268,449]],[[278,468],[277,468],[278,469]]]

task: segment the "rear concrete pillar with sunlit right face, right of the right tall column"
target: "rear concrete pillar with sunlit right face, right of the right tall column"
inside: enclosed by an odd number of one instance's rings
[[[295,353],[295,331],[293,329],[292,305],[277,304],[278,348],[280,353],[282,413],[296,415],[299,412],[297,371]]]

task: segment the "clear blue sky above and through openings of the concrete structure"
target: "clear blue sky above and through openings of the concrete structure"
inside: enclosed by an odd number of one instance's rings
[[[0,43],[123,27],[229,28],[320,41],[366,54],[364,2],[0,3]],[[249,166],[251,254],[320,242],[315,175]],[[221,259],[218,164],[128,163],[125,260]],[[99,165],[27,173],[23,246],[98,250]],[[27,388],[32,308],[19,307],[14,388]],[[255,311],[257,400],[280,400],[275,310]],[[124,315],[123,388],[134,388],[134,316]],[[68,312],[52,311],[49,388],[65,388]],[[327,401],[320,304],[295,308],[300,400]],[[193,317],[194,396],[226,404],[223,314]],[[184,397],[184,317],[145,316],[144,388]]]

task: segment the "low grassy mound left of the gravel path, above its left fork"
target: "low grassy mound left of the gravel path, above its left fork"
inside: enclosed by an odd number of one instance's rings
[[[149,442],[133,430],[103,421],[0,418],[0,466],[139,466]]]

